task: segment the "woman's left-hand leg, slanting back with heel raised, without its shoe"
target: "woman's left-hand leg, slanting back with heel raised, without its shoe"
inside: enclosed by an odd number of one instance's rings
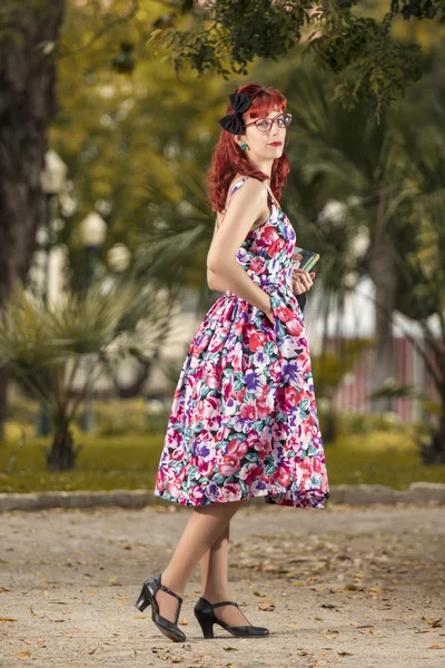
[[[182,597],[197,563],[221,534],[244,501],[208,503],[194,508],[169,564],[161,573],[161,582]],[[159,613],[174,621],[178,601],[161,589],[156,593]]]

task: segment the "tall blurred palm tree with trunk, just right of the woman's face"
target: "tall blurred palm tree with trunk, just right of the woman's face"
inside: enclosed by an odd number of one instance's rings
[[[344,216],[330,230],[330,273],[324,276],[337,298],[345,293],[345,274],[357,271],[375,284],[376,344],[373,389],[378,390],[393,376],[392,317],[397,296],[397,272],[390,239],[404,228],[399,207],[408,197],[404,178],[405,154],[397,141],[395,115],[380,115],[377,124],[364,106],[352,111],[330,100],[334,86],[312,68],[294,69],[286,94],[295,125],[301,135],[291,161],[301,163],[306,185],[314,183],[315,207],[320,210],[329,197],[343,203]],[[304,156],[301,158],[301,156]],[[314,218],[313,218],[314,220]],[[366,254],[350,267],[350,243],[366,226],[369,244]],[[314,223],[312,224],[314,228]],[[409,237],[404,250],[411,249]],[[392,409],[392,399],[378,397],[375,411]]]

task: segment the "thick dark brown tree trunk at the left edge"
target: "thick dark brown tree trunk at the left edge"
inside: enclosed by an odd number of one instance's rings
[[[27,278],[42,215],[40,171],[56,114],[57,48],[50,45],[57,45],[63,9],[65,0],[8,0],[1,9],[0,310],[14,282]],[[4,413],[0,381],[0,423]]]

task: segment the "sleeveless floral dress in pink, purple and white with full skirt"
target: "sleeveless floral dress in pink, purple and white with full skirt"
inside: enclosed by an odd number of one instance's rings
[[[233,186],[226,212],[247,178]],[[270,296],[275,324],[230,291],[200,324],[156,475],[155,495],[180,505],[264,497],[266,503],[324,508],[329,498],[309,346],[291,289],[296,235],[269,198],[269,218],[248,233],[236,259]]]

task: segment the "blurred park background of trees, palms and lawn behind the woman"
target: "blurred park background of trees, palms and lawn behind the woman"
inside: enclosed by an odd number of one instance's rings
[[[329,483],[445,482],[443,21],[394,16],[418,70],[402,95],[400,53],[388,66],[369,51],[376,105],[347,98],[359,75],[338,62],[343,47],[334,65],[328,49],[305,51],[332,29],[323,20],[275,60],[197,71],[201,49],[177,71],[172,31],[192,28],[190,4],[55,2],[28,14],[26,52],[1,32],[0,491],[154,488],[181,364],[219,296],[206,170],[227,96],[247,80],[279,88],[293,114],[283,208],[320,254],[305,322]],[[388,11],[344,4],[369,32]],[[39,58],[51,60],[40,88]],[[36,181],[31,196],[17,174]],[[10,237],[27,239],[24,255]]]

